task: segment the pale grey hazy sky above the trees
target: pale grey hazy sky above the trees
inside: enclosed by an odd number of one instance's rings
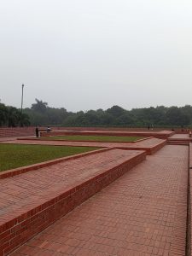
[[[0,99],[192,105],[191,0],[0,0]]]

